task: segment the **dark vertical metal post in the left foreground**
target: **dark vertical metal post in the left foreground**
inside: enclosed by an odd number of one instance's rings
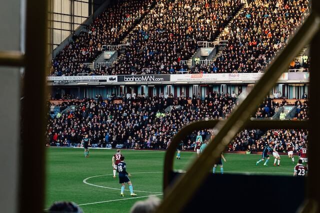
[[[47,0],[26,0],[25,73],[19,180],[20,213],[43,212],[47,9]]]

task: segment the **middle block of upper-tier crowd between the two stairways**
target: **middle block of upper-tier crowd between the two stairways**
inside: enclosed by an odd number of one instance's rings
[[[239,8],[239,0],[158,1],[108,74],[165,74],[179,71],[196,41],[212,41]]]

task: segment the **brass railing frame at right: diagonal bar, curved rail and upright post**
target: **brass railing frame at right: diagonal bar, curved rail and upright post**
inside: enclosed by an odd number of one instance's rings
[[[309,164],[310,172],[308,177],[308,187],[303,212],[320,211],[318,207],[318,205],[320,204],[320,173],[316,166],[318,165],[319,160],[316,157],[315,153],[320,147],[315,136],[316,132],[318,131],[318,127],[316,125],[318,121],[317,118],[320,118],[319,115],[316,115],[315,110],[315,106],[317,105],[318,100],[320,100],[320,97],[317,97],[319,96],[319,94],[315,92],[318,88],[316,82],[320,81],[320,77],[318,76],[320,74],[316,72],[317,67],[319,67],[318,61],[320,61],[318,60],[318,57],[320,56],[317,56],[318,54],[316,54],[316,51],[318,51],[320,47],[320,36],[318,34],[320,28],[320,17],[318,16],[318,12],[320,11],[320,3],[315,1],[313,1],[312,3],[312,13],[306,18],[295,35],[288,42],[287,46],[282,49],[282,51],[276,56],[275,60],[267,67],[265,74],[254,85],[252,91],[247,95],[247,97],[227,120],[219,121],[216,123],[215,128],[218,130],[218,133],[215,135],[213,140],[210,141],[209,145],[206,147],[202,155],[200,155],[199,158],[197,158],[197,160],[193,162],[193,164],[189,167],[188,171],[185,174],[179,175],[179,177],[175,178],[174,182],[169,185],[169,179],[172,178],[170,177],[169,173],[172,172],[172,152],[174,152],[174,145],[176,145],[181,140],[182,136],[186,136],[191,131],[197,129],[195,128],[195,126],[206,126],[204,123],[205,121],[187,125],[182,130],[180,130],[179,133],[173,138],[171,143],[171,146],[173,146],[170,150],[167,151],[165,155],[165,173],[163,180],[163,187],[165,188],[164,199],[161,205],[158,207],[157,213],[178,213],[184,210],[184,208],[193,198],[194,194],[196,194],[196,191],[201,187],[202,184],[204,184],[208,175],[207,171],[212,167],[212,162],[215,162],[219,158],[220,153],[223,152],[229,141],[232,140],[232,138],[237,132],[239,132],[240,129],[250,126],[248,118],[254,112],[256,106],[263,100],[263,97],[265,97],[268,91],[272,88],[281,73],[286,69],[287,64],[289,64],[290,60],[294,58],[294,56],[297,55],[305,45],[310,43],[312,39],[312,65],[310,73],[310,79],[312,79],[310,82],[310,90],[312,90],[310,100],[312,101],[310,102],[311,108],[313,107],[313,110],[310,113],[310,117],[312,117],[311,121],[307,121],[311,122],[312,125],[306,125],[306,127],[310,127],[309,149],[312,149],[312,151],[310,151],[309,153],[309,162],[312,161],[312,163]],[[255,122],[254,126],[255,128],[260,128],[261,126],[264,126],[266,128],[292,128],[295,126],[293,123],[294,121],[289,121],[286,123],[282,122],[283,121],[259,121]],[[290,124],[290,122],[292,122],[292,124]],[[214,126],[213,122],[210,124],[211,125],[207,125],[206,127]],[[300,124],[298,124],[296,127],[298,127],[299,125]]]

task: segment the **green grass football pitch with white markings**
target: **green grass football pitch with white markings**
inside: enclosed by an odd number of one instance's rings
[[[85,213],[125,213],[136,201],[147,196],[159,195],[161,198],[165,152],[121,151],[127,171],[132,174],[133,190],[138,195],[134,199],[128,191],[124,192],[124,198],[120,197],[118,178],[112,178],[111,158],[114,153],[115,150],[91,149],[90,157],[84,158],[83,149],[48,148],[45,208],[49,208],[54,201],[73,201]],[[174,162],[174,169],[185,170],[196,158],[195,155],[194,152],[182,152],[181,160]],[[267,167],[263,167],[262,163],[255,166],[259,155],[225,154],[225,158],[224,173],[291,176],[295,165],[286,155],[281,156],[280,167],[272,165],[273,157]],[[216,171],[219,173],[219,168]],[[125,189],[128,190],[128,187]]]

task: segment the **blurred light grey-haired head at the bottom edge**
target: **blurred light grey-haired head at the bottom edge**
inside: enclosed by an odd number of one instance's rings
[[[136,202],[131,208],[130,213],[154,213],[159,204],[160,199],[150,197],[145,201]]]

